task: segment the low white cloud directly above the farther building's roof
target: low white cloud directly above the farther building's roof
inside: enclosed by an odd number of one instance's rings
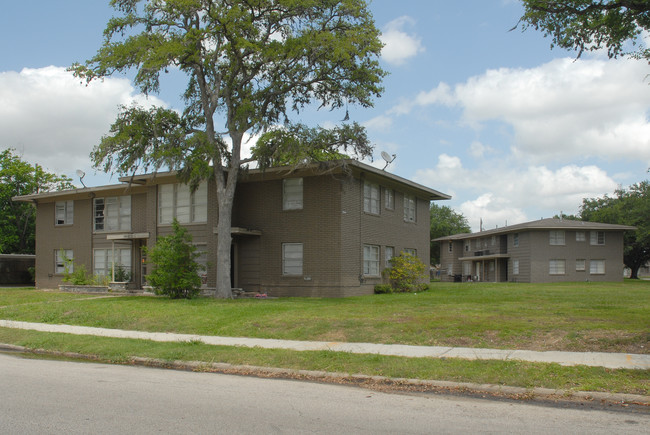
[[[583,198],[612,192],[617,183],[596,166],[565,165],[557,169],[518,167],[492,161],[484,167],[466,168],[459,157],[441,154],[435,168],[416,172],[415,181],[437,186],[443,192],[462,192],[473,199],[460,205],[472,228],[479,219],[485,228],[519,223],[541,216],[527,216],[524,210],[548,210],[553,214],[576,213]],[[545,217],[550,217],[546,215]]]

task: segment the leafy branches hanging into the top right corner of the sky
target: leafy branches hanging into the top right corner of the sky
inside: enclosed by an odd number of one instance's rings
[[[650,30],[647,0],[522,0],[523,29],[540,30],[551,46],[578,52],[607,49],[610,58],[630,54],[650,62],[642,36]],[[628,52],[628,44],[640,46]]]

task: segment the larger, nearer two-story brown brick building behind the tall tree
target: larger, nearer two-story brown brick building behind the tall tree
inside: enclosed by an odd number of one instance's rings
[[[249,170],[233,207],[232,286],[273,296],[372,293],[400,252],[429,264],[429,204],[448,195],[347,160],[321,169]],[[216,285],[216,186],[191,192],[174,173],[121,178],[122,184],[26,195],[36,206],[36,285],[56,287],[64,259],[97,275],[127,270],[146,285],[143,247],[188,228]]]

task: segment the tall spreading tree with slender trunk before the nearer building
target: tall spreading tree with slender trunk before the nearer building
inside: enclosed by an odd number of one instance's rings
[[[378,63],[379,31],[363,0],[112,0],[111,5],[117,16],[107,24],[104,44],[72,70],[86,80],[130,71],[148,94],[159,91],[162,73],[178,69],[187,77],[185,107],[182,114],[123,108],[92,158],[98,167],[121,174],[165,167],[178,170],[192,186],[216,181],[217,296],[230,297],[233,197],[240,167],[250,161],[241,156],[245,135],[278,125],[295,131],[290,115],[313,104],[371,106],[385,75]],[[365,134],[351,132],[362,128],[347,125],[304,138],[334,137],[331,147],[368,153]],[[273,160],[272,153],[258,154]]]

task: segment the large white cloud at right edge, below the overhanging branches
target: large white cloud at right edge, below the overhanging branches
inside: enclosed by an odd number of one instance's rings
[[[536,68],[488,70],[453,88],[440,83],[392,109],[461,107],[465,125],[509,125],[513,152],[537,163],[568,157],[650,163],[647,64],[630,59],[555,59]]]

